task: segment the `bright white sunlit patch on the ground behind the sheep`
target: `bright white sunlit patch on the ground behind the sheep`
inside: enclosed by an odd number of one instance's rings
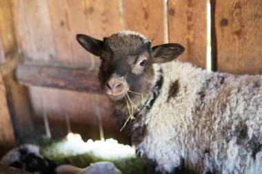
[[[132,146],[119,144],[112,138],[105,141],[88,140],[84,142],[81,135],[77,133],[68,133],[66,140],[59,143],[61,151],[79,155],[83,153],[92,153],[96,157],[103,159],[117,159],[124,157],[135,157],[135,150]]]

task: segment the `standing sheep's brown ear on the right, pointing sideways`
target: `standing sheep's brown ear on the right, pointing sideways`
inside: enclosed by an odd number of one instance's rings
[[[152,48],[153,63],[167,63],[173,61],[185,51],[185,47],[178,43],[167,43]]]

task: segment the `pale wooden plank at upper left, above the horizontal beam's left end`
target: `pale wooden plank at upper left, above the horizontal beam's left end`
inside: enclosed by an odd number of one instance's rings
[[[54,40],[46,0],[12,0],[19,45],[27,61],[54,63]]]

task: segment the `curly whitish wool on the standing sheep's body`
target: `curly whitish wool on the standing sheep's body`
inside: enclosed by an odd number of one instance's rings
[[[198,173],[262,173],[261,149],[254,160],[252,147],[246,145],[254,135],[262,144],[262,87],[254,89],[262,76],[206,72],[179,61],[154,67],[156,73],[163,70],[163,86],[143,118],[148,134],[136,146],[141,155],[156,160],[159,171],[172,172],[184,159],[185,166]],[[223,85],[216,85],[220,77]],[[208,79],[201,101],[199,92]],[[179,92],[167,102],[175,80]],[[194,113],[198,107],[201,113]],[[248,130],[245,145],[234,135],[242,120]]]

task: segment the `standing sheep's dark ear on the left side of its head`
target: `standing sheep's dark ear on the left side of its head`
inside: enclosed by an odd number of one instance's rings
[[[85,50],[88,50],[88,52],[94,54],[95,56],[101,56],[103,41],[94,39],[85,34],[77,34],[77,41],[83,48],[85,48]]]

